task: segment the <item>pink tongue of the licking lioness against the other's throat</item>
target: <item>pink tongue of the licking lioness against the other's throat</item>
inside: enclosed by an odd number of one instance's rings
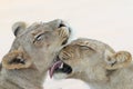
[[[52,78],[54,70],[59,68],[62,63],[63,63],[62,61],[57,61],[51,66],[51,68],[49,69],[50,78]]]

